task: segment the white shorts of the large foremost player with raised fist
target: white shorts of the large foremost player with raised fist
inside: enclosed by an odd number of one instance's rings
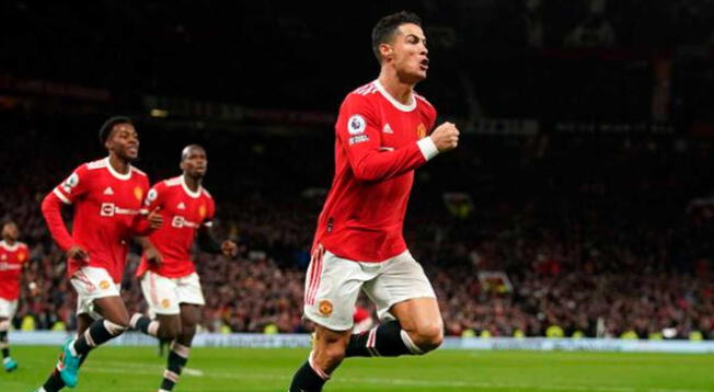
[[[424,269],[408,251],[381,263],[353,262],[320,246],[306,275],[304,315],[333,331],[354,325],[359,290],[377,305],[380,320],[393,319],[393,304],[414,298],[436,298]]]

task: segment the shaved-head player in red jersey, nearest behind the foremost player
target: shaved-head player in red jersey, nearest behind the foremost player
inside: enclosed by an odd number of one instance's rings
[[[187,146],[181,153],[180,166],[182,175],[156,184],[147,195],[146,207],[159,208],[166,221],[149,237],[154,247],[145,245],[137,269],[154,320],[136,313],[130,322],[135,330],[172,342],[159,392],[172,391],[178,381],[196,333],[199,307],[205,304],[191,257],[194,239],[198,237],[198,245],[205,252],[222,252],[227,256],[238,253],[233,241],[219,244],[211,233],[216,207],[201,185],[208,168],[206,150],[197,145]]]

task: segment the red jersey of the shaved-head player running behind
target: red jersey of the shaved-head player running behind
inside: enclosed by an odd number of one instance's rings
[[[193,274],[196,267],[191,257],[191,249],[200,226],[211,226],[216,211],[214,198],[203,186],[192,192],[181,175],[156,184],[149,191],[145,204],[150,211],[161,208],[159,211],[163,216],[163,226],[151,233],[149,239],[161,253],[163,263],[156,265],[142,256],[137,276],[147,269],[169,278]]]

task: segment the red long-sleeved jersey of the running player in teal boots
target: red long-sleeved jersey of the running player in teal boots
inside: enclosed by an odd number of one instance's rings
[[[84,163],[45,197],[43,215],[53,238],[67,251],[78,244],[89,253],[89,263],[68,260],[71,277],[89,265],[106,269],[115,283],[122,281],[131,238],[148,234],[143,197],[149,178],[129,166],[126,174],[110,164],[108,157]],[[56,199],[74,206],[72,234],[69,237]]]

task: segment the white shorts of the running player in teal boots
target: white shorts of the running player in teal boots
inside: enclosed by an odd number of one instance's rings
[[[82,267],[72,275],[69,281],[77,290],[77,314],[89,314],[93,319],[100,315],[94,312],[94,300],[106,297],[119,297],[122,285],[114,283],[110,273],[100,267]]]

